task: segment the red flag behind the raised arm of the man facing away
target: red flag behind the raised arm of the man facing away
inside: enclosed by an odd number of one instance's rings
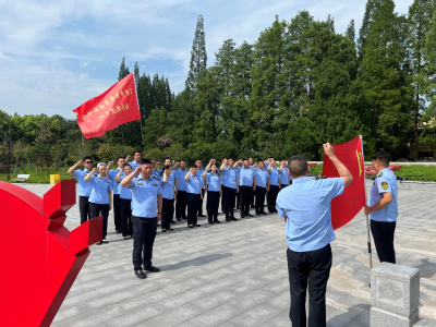
[[[335,155],[346,165],[353,175],[353,182],[342,195],[331,201],[331,225],[338,229],[350,222],[365,205],[365,167],[363,161],[362,136],[344,144],[334,145]],[[339,177],[334,162],[324,155],[323,174],[327,178]]]

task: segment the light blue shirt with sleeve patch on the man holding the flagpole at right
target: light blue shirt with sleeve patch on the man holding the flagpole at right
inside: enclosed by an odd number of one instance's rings
[[[398,217],[398,186],[396,174],[386,168],[382,170],[375,178],[373,187],[371,189],[370,206],[374,206],[383,198],[383,193],[392,193],[392,202],[386,207],[376,210],[370,215],[375,221],[397,221]]]

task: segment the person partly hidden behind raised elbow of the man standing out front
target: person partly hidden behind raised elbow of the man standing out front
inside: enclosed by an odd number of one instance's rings
[[[116,183],[120,187],[120,216],[121,216],[121,233],[124,240],[130,240],[133,237],[133,221],[132,221],[132,191],[128,187],[121,186],[121,181],[132,173],[132,166],[123,164],[119,167],[120,170],[116,175]]]

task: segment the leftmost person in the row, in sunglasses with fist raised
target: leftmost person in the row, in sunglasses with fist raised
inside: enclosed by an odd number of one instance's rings
[[[80,169],[83,166],[84,169]],[[93,171],[93,158],[86,156],[66,172],[77,180],[78,183],[78,210],[81,213],[81,225],[86,222],[89,217],[89,196],[90,184],[85,182],[85,177]],[[96,173],[97,174],[97,173]]]

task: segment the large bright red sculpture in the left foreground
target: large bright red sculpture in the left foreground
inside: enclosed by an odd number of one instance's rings
[[[43,198],[0,182],[0,325],[49,326],[101,239],[102,217],[73,231],[63,222],[75,204],[75,180],[61,181]]]

